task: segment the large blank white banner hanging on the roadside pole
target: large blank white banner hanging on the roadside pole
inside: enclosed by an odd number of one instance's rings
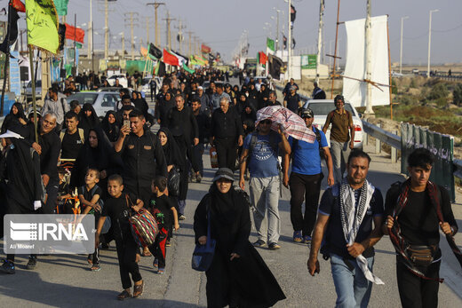
[[[372,17],[370,22],[372,25],[370,28],[370,80],[373,83],[382,84],[371,87],[371,105],[390,105],[387,16]],[[366,78],[365,24],[365,19],[345,22],[347,42],[343,96],[354,107],[366,106],[367,83],[363,82]],[[351,78],[359,79],[359,81]]]

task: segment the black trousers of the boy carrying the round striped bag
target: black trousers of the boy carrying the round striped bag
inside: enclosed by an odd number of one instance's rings
[[[131,280],[138,282],[142,278],[139,273],[138,263],[135,262],[136,254],[139,253],[138,245],[132,239],[131,234],[126,235],[127,239],[125,241],[116,241],[116,249],[122,288],[131,288]]]

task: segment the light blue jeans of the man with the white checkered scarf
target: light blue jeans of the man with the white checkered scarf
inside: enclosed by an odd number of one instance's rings
[[[374,257],[367,258],[369,269],[372,271]],[[346,265],[348,262],[352,270]],[[343,260],[343,257],[331,254],[331,271],[337,292],[336,307],[339,308],[365,308],[369,304],[372,282],[364,277],[355,260]]]

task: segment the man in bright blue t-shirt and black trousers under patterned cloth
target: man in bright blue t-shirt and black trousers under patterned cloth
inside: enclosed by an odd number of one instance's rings
[[[333,165],[327,139],[322,130],[313,126],[315,114],[310,108],[301,110],[301,118],[305,120],[307,128],[316,134],[314,143],[307,143],[289,137],[291,155],[286,154],[283,160],[284,186],[291,187],[291,223],[293,226],[293,241],[311,244],[311,233],[315,226],[316,213],[324,175],[321,162],[325,159],[328,177],[327,184],[334,185]],[[289,178],[289,164],[292,159],[291,178]],[[289,180],[287,180],[289,178]],[[305,215],[301,206],[305,197]]]

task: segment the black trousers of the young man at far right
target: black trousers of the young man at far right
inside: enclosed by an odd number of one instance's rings
[[[428,278],[438,278],[440,274],[441,261],[421,269]],[[438,307],[438,289],[440,282],[425,280],[414,275],[406,265],[396,257],[396,280],[400,292],[403,308],[436,308]]]

